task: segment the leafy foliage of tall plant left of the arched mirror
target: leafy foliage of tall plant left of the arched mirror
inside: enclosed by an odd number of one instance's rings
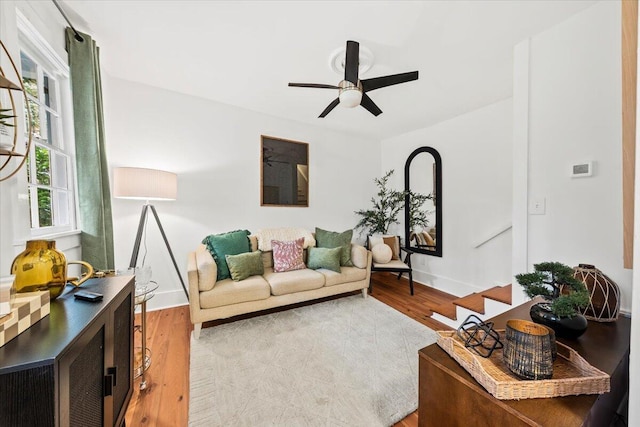
[[[391,224],[398,224],[398,214],[404,205],[404,191],[396,191],[387,187],[389,178],[393,175],[393,169],[382,178],[375,178],[378,187],[376,197],[371,198],[373,208],[360,209],[355,213],[360,215],[360,221],[356,229],[368,230],[369,234],[386,234]]]

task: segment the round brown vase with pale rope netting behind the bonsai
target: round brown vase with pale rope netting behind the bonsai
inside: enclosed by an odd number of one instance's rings
[[[574,267],[573,277],[584,283],[589,291],[589,305],[582,311],[584,317],[596,322],[618,320],[620,288],[613,280],[590,264]]]

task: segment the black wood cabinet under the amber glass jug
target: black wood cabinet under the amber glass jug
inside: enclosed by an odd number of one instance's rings
[[[120,426],[133,392],[133,276],[68,287],[51,313],[0,347],[0,426]]]

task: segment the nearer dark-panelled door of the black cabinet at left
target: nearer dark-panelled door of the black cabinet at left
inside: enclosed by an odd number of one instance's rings
[[[60,359],[60,426],[102,427],[105,415],[105,340],[108,313]]]

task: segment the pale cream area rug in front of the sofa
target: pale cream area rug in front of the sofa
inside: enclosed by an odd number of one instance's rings
[[[191,338],[190,426],[389,426],[418,407],[426,326],[349,296]]]

